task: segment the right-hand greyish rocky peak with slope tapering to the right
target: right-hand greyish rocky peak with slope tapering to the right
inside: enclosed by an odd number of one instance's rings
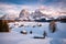
[[[31,13],[31,16],[35,20],[38,20],[38,19],[51,19],[52,16],[51,15],[47,15],[45,13],[42,13],[41,10],[35,10],[35,12]]]

